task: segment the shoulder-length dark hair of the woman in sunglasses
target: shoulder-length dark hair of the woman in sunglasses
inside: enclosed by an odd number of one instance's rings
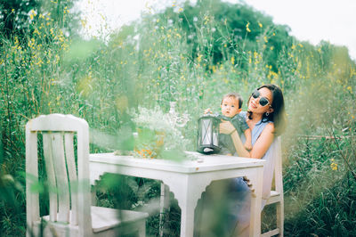
[[[281,135],[286,130],[287,127],[287,116],[286,110],[284,108],[284,99],[282,90],[279,86],[274,84],[267,84],[257,88],[257,90],[261,88],[267,88],[271,91],[272,94],[272,104],[271,108],[273,112],[270,114],[263,114],[262,122],[271,121],[274,123],[274,134]],[[251,99],[251,97],[250,97]],[[249,99],[248,99],[249,102]],[[247,111],[248,119],[252,119],[252,111]]]

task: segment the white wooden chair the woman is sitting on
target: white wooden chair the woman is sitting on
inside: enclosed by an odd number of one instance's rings
[[[278,138],[278,156],[274,165],[274,183],[275,190],[271,191],[270,198],[266,201],[265,205],[276,203],[276,217],[277,227],[269,232],[263,233],[262,236],[273,236],[279,234],[283,236],[284,225],[284,200],[283,200],[283,177],[282,177],[282,150],[280,144],[280,137]]]

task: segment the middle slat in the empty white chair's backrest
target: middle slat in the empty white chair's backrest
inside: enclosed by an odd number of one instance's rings
[[[52,152],[54,172],[57,181],[58,192],[58,221],[69,223],[69,182],[66,160],[64,157],[63,134],[52,133]]]

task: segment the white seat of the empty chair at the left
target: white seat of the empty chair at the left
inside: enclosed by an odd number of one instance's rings
[[[115,208],[102,208],[92,206],[92,227],[93,233],[100,233],[118,225],[128,225],[136,221],[149,217],[148,213],[132,210],[119,210]],[[69,215],[71,217],[71,215]],[[120,217],[120,218],[119,218]],[[45,221],[50,220],[50,216],[43,217]],[[38,222],[39,224],[39,222]],[[63,225],[63,223],[61,223]],[[75,226],[72,226],[76,228]]]

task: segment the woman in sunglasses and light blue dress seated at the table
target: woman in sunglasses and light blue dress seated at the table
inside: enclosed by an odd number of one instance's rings
[[[247,151],[235,127],[229,121],[223,121],[220,132],[231,135],[232,142],[240,157],[266,159],[263,168],[263,199],[267,199],[271,192],[274,160],[277,152],[275,137],[284,132],[286,127],[286,113],[282,91],[276,85],[264,85],[257,88],[247,102],[247,112],[241,112],[252,130],[252,149]],[[216,188],[217,187],[217,188]],[[222,187],[225,189],[222,193]],[[219,190],[217,192],[217,190]],[[223,200],[217,201],[214,196],[220,193]],[[216,203],[219,203],[216,207]],[[264,205],[264,202],[263,202]],[[201,208],[202,210],[200,210]],[[217,208],[223,223],[212,223],[211,213],[205,209]],[[198,205],[197,233],[204,236],[228,236],[238,233],[247,236],[250,217],[250,191],[247,183],[242,178],[228,181],[219,181],[211,184],[202,196]],[[201,212],[199,212],[201,211]],[[223,213],[223,214],[222,214]],[[209,222],[210,224],[206,224]]]

